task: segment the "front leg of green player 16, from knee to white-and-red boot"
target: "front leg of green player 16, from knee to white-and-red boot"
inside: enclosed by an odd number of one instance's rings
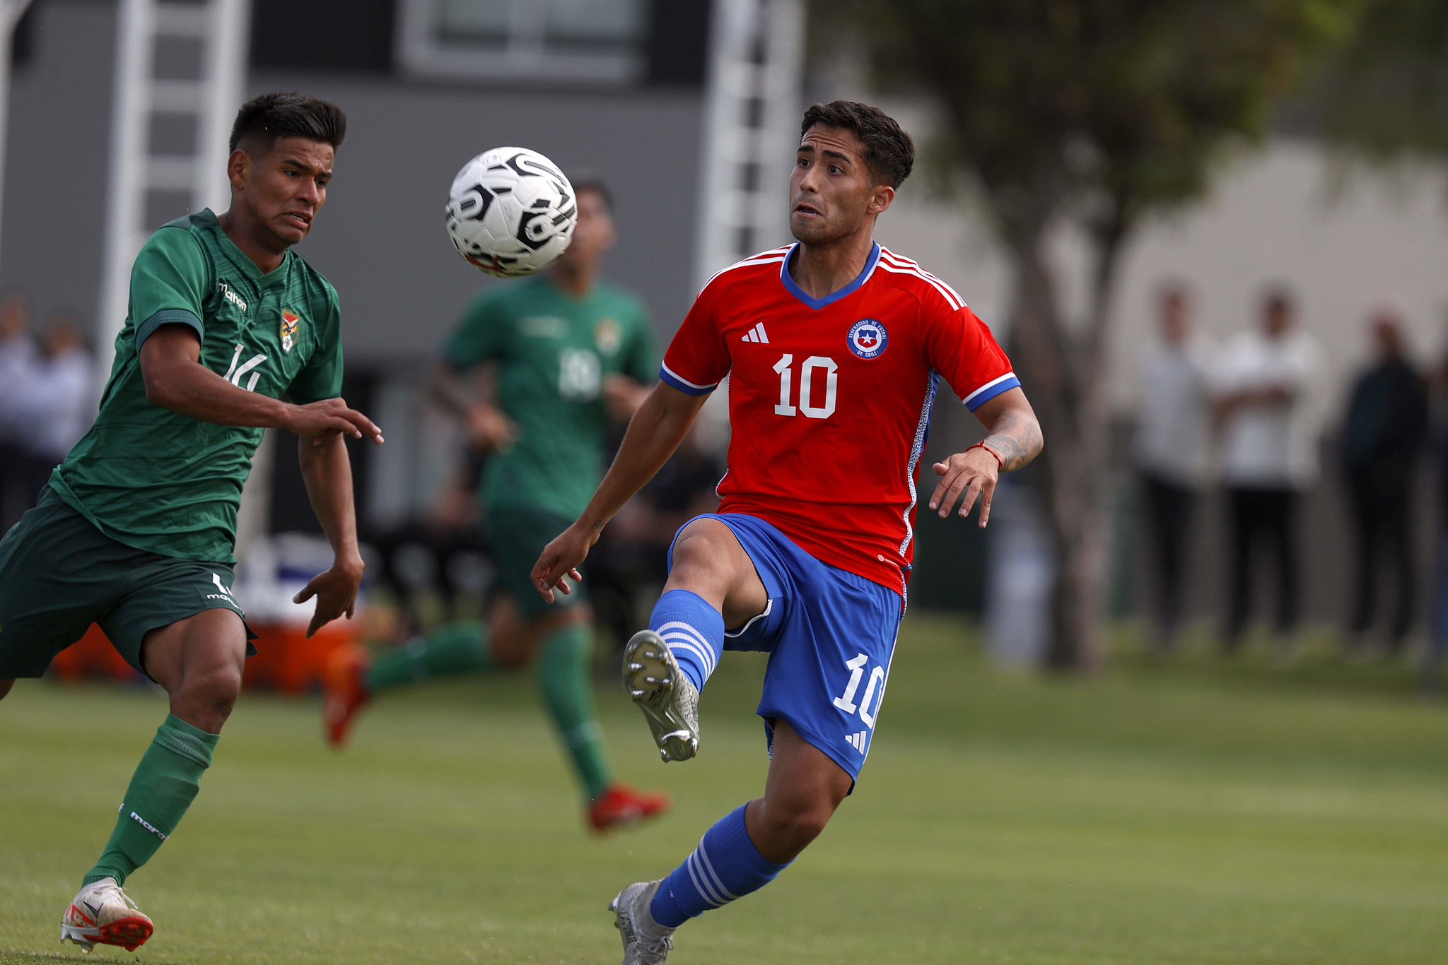
[[[245,660],[246,628],[229,609],[203,611],[146,634],[142,661],[167,689],[171,713],[130,778],[104,852],[65,911],[62,942],[135,951],[151,938],[151,919],[122,885],[175,832],[195,799],[240,693]]]

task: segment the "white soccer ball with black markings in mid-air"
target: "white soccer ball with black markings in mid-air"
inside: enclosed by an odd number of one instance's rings
[[[540,272],[573,240],[573,185],[527,148],[494,148],[462,166],[447,197],[447,237],[473,268],[498,278]]]

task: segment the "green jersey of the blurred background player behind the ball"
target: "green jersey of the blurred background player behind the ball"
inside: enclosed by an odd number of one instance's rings
[[[443,346],[459,372],[492,362],[498,405],[518,425],[513,449],[488,460],[482,501],[573,518],[602,476],[608,411],[604,378],[659,378],[643,302],[608,285],[576,298],[550,278],[502,285],[479,298]]]

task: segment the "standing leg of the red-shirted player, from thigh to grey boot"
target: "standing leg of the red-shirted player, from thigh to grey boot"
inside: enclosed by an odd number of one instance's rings
[[[776,720],[765,796],[710,828],[666,878],[631,884],[610,903],[624,964],[663,962],[681,924],[773,881],[820,836],[853,783],[788,722]]]

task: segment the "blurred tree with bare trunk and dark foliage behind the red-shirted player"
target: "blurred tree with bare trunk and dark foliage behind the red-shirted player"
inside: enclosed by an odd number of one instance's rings
[[[1105,580],[1105,346],[1125,242],[1202,197],[1261,137],[1305,68],[1344,43],[1367,0],[834,0],[882,90],[938,109],[937,156],[985,201],[1014,272],[1015,367],[1041,417],[1057,586],[1048,663],[1099,661]],[[833,36],[834,35],[834,36]],[[1090,288],[1061,302],[1047,240],[1092,242]]]

